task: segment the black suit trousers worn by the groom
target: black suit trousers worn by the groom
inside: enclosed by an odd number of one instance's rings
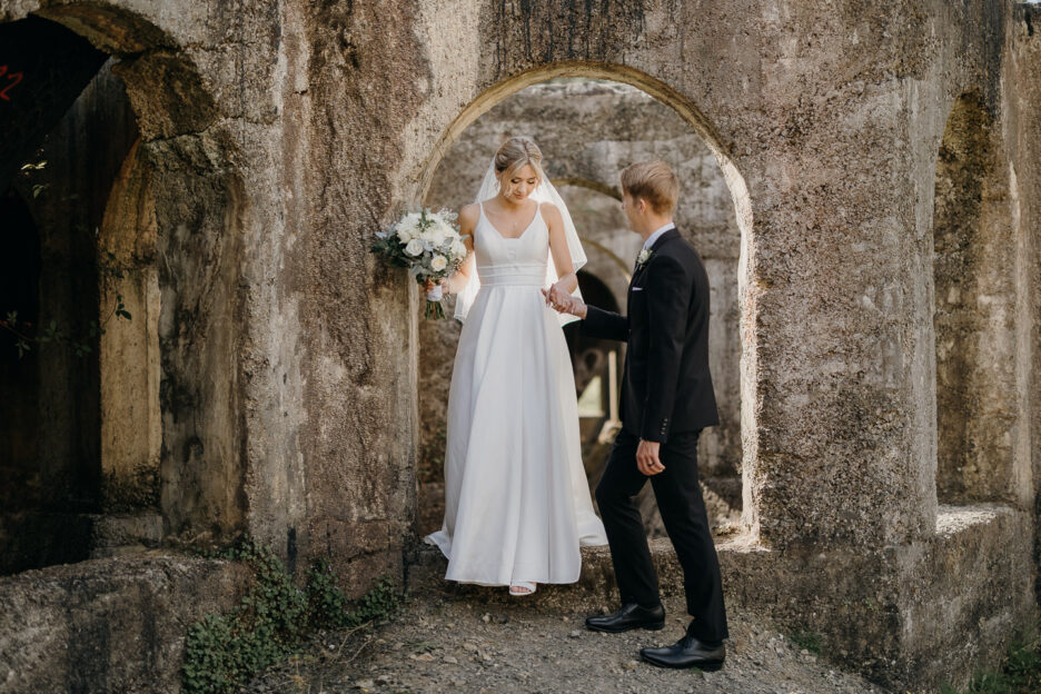
[[[694,617],[687,633],[700,641],[715,642],[727,637],[726,611],[720,561],[697,484],[700,434],[697,430],[668,436],[658,454],[665,470],[652,475],[651,485],[683,567],[687,612]],[[618,432],[596,486],[596,502],[607,529],[622,604],[652,606],[661,602],[661,596],[647,534],[634,498],[647,482],[647,476],[636,467],[638,445],[638,437]]]

